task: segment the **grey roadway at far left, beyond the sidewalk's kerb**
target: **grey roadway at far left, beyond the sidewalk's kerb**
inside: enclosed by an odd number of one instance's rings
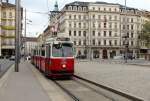
[[[0,77],[7,71],[7,69],[14,63],[8,59],[0,59]]]

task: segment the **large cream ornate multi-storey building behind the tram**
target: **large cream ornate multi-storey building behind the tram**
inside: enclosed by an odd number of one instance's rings
[[[58,24],[58,32],[66,33],[74,42],[75,56],[113,58],[125,53],[138,57],[145,18],[140,10],[106,2],[72,2],[50,19]],[[126,36],[126,38],[124,37]]]

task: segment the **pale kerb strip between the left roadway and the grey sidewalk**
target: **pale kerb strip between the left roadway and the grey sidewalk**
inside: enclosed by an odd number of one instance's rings
[[[9,69],[7,70],[7,72],[5,72],[5,74],[0,78],[0,89],[4,85],[6,85],[6,81],[8,80],[8,77],[9,77],[10,73],[12,73],[13,67],[14,67],[14,65],[12,65],[11,67],[9,67]]]

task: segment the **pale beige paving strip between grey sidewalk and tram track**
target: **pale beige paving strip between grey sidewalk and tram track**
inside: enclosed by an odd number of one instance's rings
[[[62,90],[57,87],[54,82],[51,80],[46,80],[46,78],[41,75],[41,73],[36,70],[34,67],[30,67],[35,77],[38,79],[42,85],[44,91],[48,94],[48,97],[51,101],[68,101],[66,98],[67,95],[64,94]]]

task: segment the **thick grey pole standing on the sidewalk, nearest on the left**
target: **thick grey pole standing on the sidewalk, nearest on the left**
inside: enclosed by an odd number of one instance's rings
[[[19,72],[19,52],[20,52],[20,47],[19,47],[19,23],[20,23],[20,17],[19,17],[19,10],[20,10],[20,0],[15,0],[16,4],[16,16],[15,16],[15,26],[16,26],[16,31],[15,31],[15,72]]]

